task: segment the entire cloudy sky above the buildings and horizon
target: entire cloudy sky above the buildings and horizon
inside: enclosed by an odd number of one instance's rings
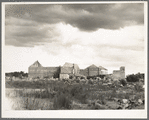
[[[144,4],[7,4],[5,71],[76,63],[145,72]]]

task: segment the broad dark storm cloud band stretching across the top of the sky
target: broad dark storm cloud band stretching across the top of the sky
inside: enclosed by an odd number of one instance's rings
[[[26,13],[28,16],[25,16]],[[6,7],[6,17],[15,16],[49,24],[64,22],[83,31],[94,31],[99,28],[119,29],[129,25],[143,24],[143,13],[144,4],[141,3]]]

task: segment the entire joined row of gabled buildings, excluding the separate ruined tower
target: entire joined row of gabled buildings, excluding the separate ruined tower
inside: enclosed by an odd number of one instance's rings
[[[107,69],[102,66],[95,66],[94,64],[85,68],[80,69],[77,64],[65,63],[63,66],[58,67],[43,67],[38,61],[32,64],[28,68],[28,75],[30,78],[36,77],[48,77],[48,78],[69,78],[70,75],[75,76],[96,76],[106,75]]]

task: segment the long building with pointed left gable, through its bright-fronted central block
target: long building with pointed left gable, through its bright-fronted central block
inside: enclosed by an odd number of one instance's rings
[[[80,72],[79,66],[73,63],[65,63],[62,67],[43,67],[38,61],[33,63],[28,68],[29,78],[69,78],[69,75],[76,74]]]

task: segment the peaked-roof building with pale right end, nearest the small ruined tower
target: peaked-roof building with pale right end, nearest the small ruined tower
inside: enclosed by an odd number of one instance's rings
[[[84,76],[106,75],[108,74],[108,70],[102,66],[97,67],[94,64],[92,64],[91,66],[85,69],[81,69],[80,74]]]

